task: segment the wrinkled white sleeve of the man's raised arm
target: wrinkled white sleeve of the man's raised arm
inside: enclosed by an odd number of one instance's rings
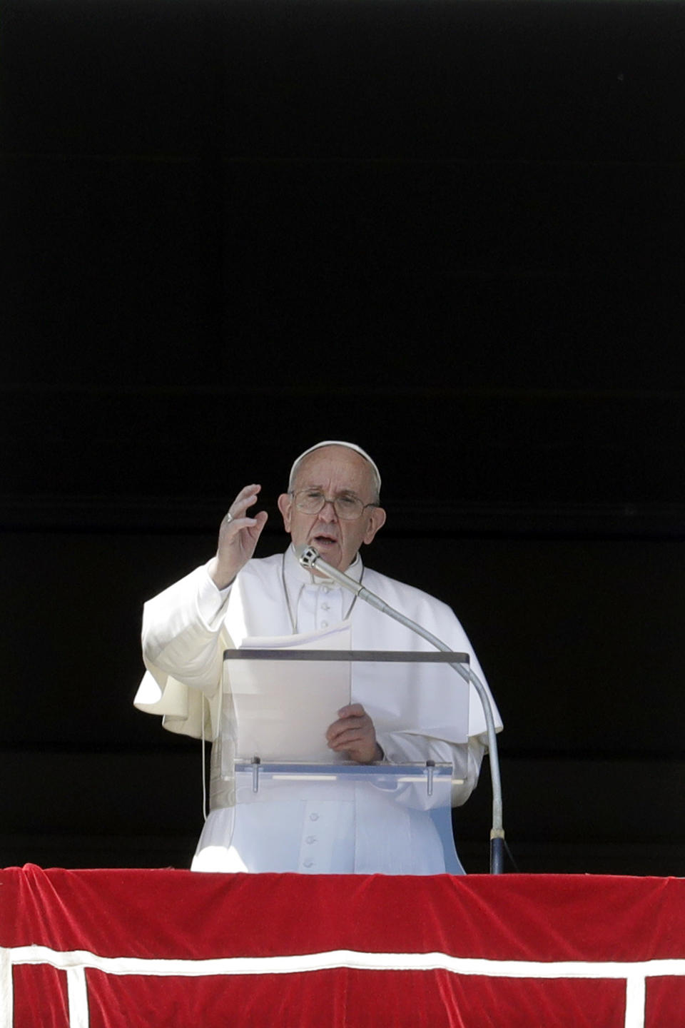
[[[230,587],[219,590],[204,566],[175,582],[143,611],[143,660],[162,685],[167,676],[217,691],[227,640],[224,617]]]

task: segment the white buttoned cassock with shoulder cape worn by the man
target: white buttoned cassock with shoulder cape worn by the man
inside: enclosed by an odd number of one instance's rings
[[[426,628],[485,677],[470,642],[447,604],[419,589],[364,567],[360,557],[347,575],[390,607]],[[164,715],[164,727],[219,740],[224,757],[230,740],[222,724],[223,652],[248,636],[289,635],[351,626],[355,650],[431,651],[430,644],[387,615],[301,567],[291,546],[284,554],[253,559],[235,582],[220,591],[205,567],[198,567],[145,604],[143,654],[148,673],[136,705]],[[464,803],[478,781],[486,751],[486,721],[469,686],[468,742],[456,741],[457,683],[448,667],[430,664],[352,665],[351,699],[374,720],[397,702],[409,709],[402,731],[378,734],[385,760],[448,762],[463,779],[452,794]],[[379,673],[379,667],[383,670]],[[392,671],[387,668],[392,667]],[[398,670],[402,667],[402,670]],[[403,688],[397,676],[408,675]],[[465,688],[465,687],[462,687]],[[486,684],[487,689],[487,684]],[[411,698],[409,698],[411,697]],[[204,698],[204,702],[203,702]],[[493,701],[497,730],[501,721]],[[332,711],[331,722],[337,718]],[[223,738],[222,738],[223,736]],[[221,746],[215,749],[220,750]],[[213,759],[211,811],[200,836],[193,870],[298,872],[302,874],[432,875],[445,871],[443,847],[429,813],[395,803],[368,784],[287,785],[278,799],[233,805],[222,780],[222,761]]]

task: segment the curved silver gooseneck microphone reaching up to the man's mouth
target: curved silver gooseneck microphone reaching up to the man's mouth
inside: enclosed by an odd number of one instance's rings
[[[355,596],[359,599],[365,600],[365,602],[370,603],[371,607],[375,607],[377,611],[381,611],[382,614],[387,614],[388,617],[394,618],[398,621],[401,625],[409,628],[411,631],[416,632],[417,635],[421,635],[422,638],[426,639],[431,646],[434,646],[436,650],[441,650],[443,653],[453,653],[451,647],[442,639],[439,639],[436,635],[429,632],[426,628],[412,621],[411,618],[406,617],[406,615],[401,614],[399,611],[395,611],[393,607],[386,603],[385,600],[377,596],[376,593],[371,592],[366,586],[363,586],[360,582],[355,582],[354,579],[350,578],[349,575],[345,575],[343,572],[339,572],[337,567],[333,567],[328,564],[318,554],[313,546],[297,547],[296,549],[298,559],[303,567],[308,571],[318,570],[332,578],[335,582],[343,587],[343,589],[348,589],[353,592]],[[450,664],[461,677],[470,683],[475,692],[478,693],[481,703],[483,705],[483,712],[485,713],[485,721],[488,730],[488,750],[490,755],[490,777],[492,780],[492,829],[490,830],[490,872],[493,875],[500,875],[502,873],[502,868],[504,865],[504,829],[502,827],[502,784],[499,776],[499,757],[497,752],[497,733],[495,731],[495,719],[492,712],[492,703],[490,702],[490,696],[488,695],[488,690],[485,688],[478,674],[471,670],[469,666],[464,666],[463,664]]]

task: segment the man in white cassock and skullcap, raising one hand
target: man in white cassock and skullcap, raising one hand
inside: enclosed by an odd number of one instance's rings
[[[312,446],[293,465],[288,492],[278,498],[292,540],[284,554],[253,556],[267,515],[251,512],[260,486],[246,485],[222,521],[216,555],[145,604],[147,673],[136,705],[162,714],[172,731],[214,742],[211,810],[193,870],[397,875],[445,871],[433,820],[422,809],[428,801],[395,802],[386,790],[338,781],[288,783],[265,790],[259,802],[236,805],[227,773],[233,730],[227,712],[231,704],[225,696],[222,702],[226,649],[253,636],[347,625],[354,650],[434,652],[415,632],[357,601],[331,578],[303,568],[296,547],[315,547],[328,564],[363,581],[453,651],[468,653],[472,670],[485,682],[449,607],[363,564],[359,547],[370,544],[385,522],[380,484],[375,463],[353,443]],[[332,759],[359,766],[448,762],[453,777],[462,781],[452,787],[452,804],[464,803],[487,748],[485,715],[473,687],[468,687],[468,739],[463,741],[463,731],[459,734],[455,727],[461,680],[453,670],[426,663],[367,664],[364,671],[360,665],[351,666],[352,702],[331,711],[326,732]],[[398,696],[403,710],[394,709]],[[499,730],[494,702],[493,712]],[[377,731],[376,724],[391,724],[395,730]],[[420,793],[417,790],[416,796]]]

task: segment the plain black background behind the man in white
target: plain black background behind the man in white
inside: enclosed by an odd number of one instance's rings
[[[683,873],[684,52],[672,2],[5,0],[0,862],[187,866],[143,601],[343,438],[520,869]]]

